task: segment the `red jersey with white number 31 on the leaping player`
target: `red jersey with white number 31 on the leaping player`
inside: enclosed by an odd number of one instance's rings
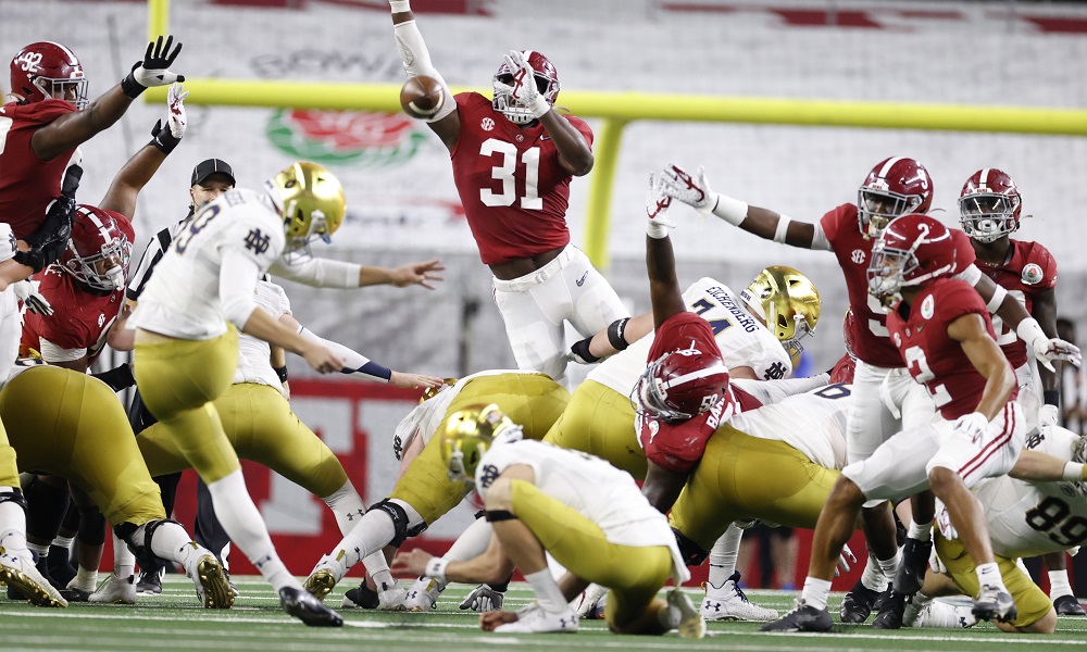
[[[539,124],[522,129],[476,92],[458,95],[457,106],[453,181],[483,262],[530,258],[570,243],[571,175],[547,130]],[[564,117],[591,147],[585,121]]]

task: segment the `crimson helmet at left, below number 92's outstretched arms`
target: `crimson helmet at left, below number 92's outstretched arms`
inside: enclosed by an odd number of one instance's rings
[[[133,225],[121,213],[80,204],[72,224],[72,239],[57,263],[91,289],[112,291],[125,287]]]

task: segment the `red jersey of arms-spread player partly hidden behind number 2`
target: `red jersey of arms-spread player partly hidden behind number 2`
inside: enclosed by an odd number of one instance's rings
[[[853,354],[876,366],[901,367],[902,358],[888,339],[887,313],[879,301],[869,293],[869,261],[875,240],[861,233],[857,218],[857,204],[841,204],[820,220],[823,233],[830,242],[834,255],[846,277],[849,309],[854,318],[849,322]],[[955,273],[974,262],[974,248],[966,234],[950,229],[955,239]]]

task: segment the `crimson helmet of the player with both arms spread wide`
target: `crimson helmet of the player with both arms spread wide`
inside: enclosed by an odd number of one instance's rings
[[[878,238],[899,215],[927,213],[932,205],[933,178],[924,165],[904,156],[879,162],[857,191],[857,218],[870,238]]]

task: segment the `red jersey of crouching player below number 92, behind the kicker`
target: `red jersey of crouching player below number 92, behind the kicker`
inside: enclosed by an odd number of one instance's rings
[[[35,278],[40,280],[38,292],[53,306],[53,314],[26,313],[21,348],[40,352],[45,339],[62,349],[86,349],[90,366],[102,353],[105,336],[125,303],[124,289],[104,296],[88,292],[57,266]]]

